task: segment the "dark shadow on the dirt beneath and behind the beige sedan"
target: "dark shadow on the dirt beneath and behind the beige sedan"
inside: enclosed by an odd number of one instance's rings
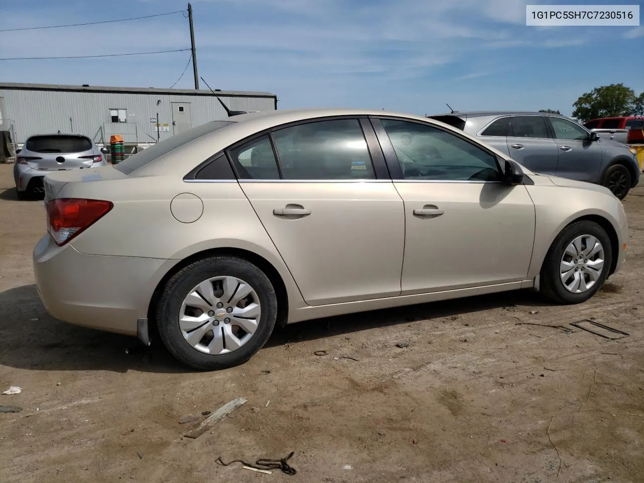
[[[304,321],[284,328],[276,327],[267,346],[325,339],[490,308],[519,310],[522,306],[544,305],[550,304],[538,294],[521,290],[360,312]],[[35,285],[24,285],[0,293],[0,365],[50,371],[191,372],[167,352],[158,337],[154,339],[153,344],[146,347],[136,337],[78,327],[54,319],[43,307]]]

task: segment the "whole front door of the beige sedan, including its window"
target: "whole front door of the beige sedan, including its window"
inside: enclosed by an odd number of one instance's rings
[[[451,131],[380,122],[401,167],[390,163],[406,220],[401,294],[524,280],[535,236],[526,187],[498,182],[495,156]]]

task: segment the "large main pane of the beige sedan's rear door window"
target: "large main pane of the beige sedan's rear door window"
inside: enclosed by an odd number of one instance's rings
[[[374,179],[357,119],[307,122],[272,133],[285,180]]]

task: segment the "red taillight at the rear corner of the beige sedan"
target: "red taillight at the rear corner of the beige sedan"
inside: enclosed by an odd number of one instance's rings
[[[114,205],[108,201],[57,198],[47,203],[47,230],[59,247],[97,222]]]

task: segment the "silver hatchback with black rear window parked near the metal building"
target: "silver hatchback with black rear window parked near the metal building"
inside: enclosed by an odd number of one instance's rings
[[[43,193],[43,178],[50,171],[106,166],[108,149],[80,134],[44,134],[28,138],[16,151],[15,189],[18,198]]]

